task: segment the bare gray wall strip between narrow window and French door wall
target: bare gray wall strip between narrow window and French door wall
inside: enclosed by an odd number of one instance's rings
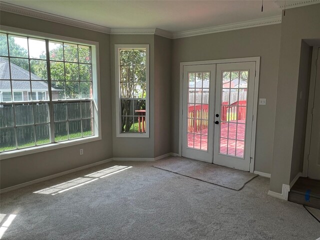
[[[171,151],[171,43],[154,36],[154,157]]]

